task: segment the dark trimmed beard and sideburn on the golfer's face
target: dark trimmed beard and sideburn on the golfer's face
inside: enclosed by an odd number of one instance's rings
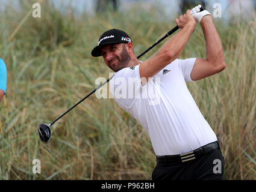
[[[111,70],[113,70],[114,72],[122,70],[122,68],[125,68],[131,60],[131,57],[126,50],[124,43],[122,44],[122,47],[123,47],[123,50],[120,53],[120,56],[117,56],[116,58],[113,58],[110,61],[111,63],[114,59],[117,59],[117,62],[115,64],[109,66],[109,68],[111,68]]]

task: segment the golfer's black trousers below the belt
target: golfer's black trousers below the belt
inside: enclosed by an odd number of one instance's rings
[[[184,163],[157,163],[152,179],[159,180],[223,180],[224,157],[220,149]]]

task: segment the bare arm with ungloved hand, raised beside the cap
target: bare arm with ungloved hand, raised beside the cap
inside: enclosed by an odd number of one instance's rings
[[[195,31],[195,19],[191,16],[190,10],[184,16],[180,16],[180,20],[176,19],[176,23],[181,28],[181,31],[175,34],[152,58],[147,59],[140,64],[140,77],[154,77],[170,62],[174,61],[184,50],[184,47],[189,41],[190,35]],[[145,84],[143,82],[142,84]]]

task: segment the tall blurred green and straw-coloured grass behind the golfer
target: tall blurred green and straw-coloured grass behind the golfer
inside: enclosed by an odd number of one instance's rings
[[[7,65],[7,95],[0,103],[0,179],[151,179],[155,154],[148,135],[113,99],[87,98],[52,128],[44,145],[37,126],[49,124],[96,88],[110,69],[92,58],[102,32],[117,28],[142,53],[175,26],[161,7],[77,15],[40,2],[42,17],[31,16],[34,1],[19,1],[0,14],[0,57]],[[178,16],[177,16],[178,17]],[[163,19],[165,18],[165,19]],[[226,179],[256,179],[256,17],[214,19],[226,69],[187,83],[225,156]],[[146,53],[149,58],[161,45]],[[205,58],[199,25],[180,58]],[[32,172],[33,160],[41,173]]]

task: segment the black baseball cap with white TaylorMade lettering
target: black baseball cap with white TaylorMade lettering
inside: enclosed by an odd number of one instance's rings
[[[119,29],[110,29],[101,35],[98,46],[92,50],[92,56],[101,56],[101,46],[104,44],[128,42],[131,42],[131,38],[126,34],[126,32]]]

